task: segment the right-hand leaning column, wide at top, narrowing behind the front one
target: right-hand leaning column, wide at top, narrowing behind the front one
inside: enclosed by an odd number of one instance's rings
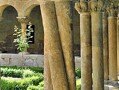
[[[69,83],[69,90],[76,89],[75,66],[73,56],[73,33],[72,33],[72,1],[55,1],[58,29],[63,49],[63,57]]]

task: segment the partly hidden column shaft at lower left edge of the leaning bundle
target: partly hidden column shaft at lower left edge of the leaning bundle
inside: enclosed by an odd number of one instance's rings
[[[53,90],[51,71],[49,65],[49,48],[47,47],[50,43],[48,41],[48,36],[44,37],[44,90]]]

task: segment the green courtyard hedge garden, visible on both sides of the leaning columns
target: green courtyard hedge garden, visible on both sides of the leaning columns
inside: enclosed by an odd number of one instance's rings
[[[81,72],[76,69],[76,90],[80,90]],[[42,67],[1,66],[1,90],[44,90]]]

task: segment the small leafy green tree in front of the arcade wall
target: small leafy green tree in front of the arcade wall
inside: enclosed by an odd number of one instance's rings
[[[14,43],[16,43],[15,46],[17,46],[17,49],[20,52],[25,52],[27,50],[27,48],[29,48],[29,42],[31,38],[33,38],[33,36],[31,35],[31,33],[33,32],[33,29],[31,28],[32,24],[29,22],[28,24],[28,29],[26,29],[26,36],[24,37],[22,35],[22,29],[19,29],[16,25],[14,26],[14,36],[16,37],[14,39]]]

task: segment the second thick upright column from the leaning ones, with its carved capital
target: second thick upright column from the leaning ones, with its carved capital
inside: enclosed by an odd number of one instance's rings
[[[93,90],[104,90],[102,7],[91,2]]]

